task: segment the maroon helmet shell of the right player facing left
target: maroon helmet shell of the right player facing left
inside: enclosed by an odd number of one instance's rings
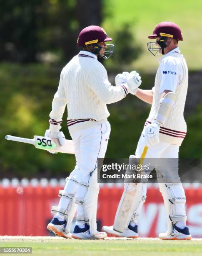
[[[157,36],[167,36],[183,41],[182,31],[180,27],[170,21],[164,21],[157,24],[153,31],[153,35],[148,36],[148,38],[155,39],[157,38]]]

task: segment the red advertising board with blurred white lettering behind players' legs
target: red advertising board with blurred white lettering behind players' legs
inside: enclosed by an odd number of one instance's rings
[[[52,219],[50,209],[57,205],[60,186],[2,187],[0,186],[0,235],[47,236],[47,223]],[[100,188],[97,221],[98,227],[113,225],[122,187]],[[192,237],[202,237],[202,187],[185,188],[187,197],[187,225]],[[147,188],[147,200],[139,219],[139,235],[157,237],[165,232],[166,216],[158,187]],[[73,227],[73,225],[72,225]]]

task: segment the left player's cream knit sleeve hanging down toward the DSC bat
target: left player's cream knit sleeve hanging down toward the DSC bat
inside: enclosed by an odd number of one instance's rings
[[[60,82],[57,89],[57,92],[54,95],[54,99],[52,101],[52,111],[50,112],[50,130],[59,131],[62,122],[62,115],[65,111],[65,106],[67,105],[67,97],[65,95],[64,90],[64,79],[62,76],[62,72],[60,74]]]

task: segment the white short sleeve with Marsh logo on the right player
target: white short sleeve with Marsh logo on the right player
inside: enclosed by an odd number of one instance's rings
[[[180,63],[172,56],[168,56],[162,61],[160,69],[162,77],[160,93],[163,93],[164,90],[170,90],[172,92],[176,91],[177,85],[179,85],[180,76],[182,76],[180,69]]]

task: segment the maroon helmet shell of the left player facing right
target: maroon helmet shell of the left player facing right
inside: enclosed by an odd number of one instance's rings
[[[77,46],[107,41],[112,41],[112,38],[107,37],[105,30],[99,26],[91,25],[82,29],[77,40]]]

